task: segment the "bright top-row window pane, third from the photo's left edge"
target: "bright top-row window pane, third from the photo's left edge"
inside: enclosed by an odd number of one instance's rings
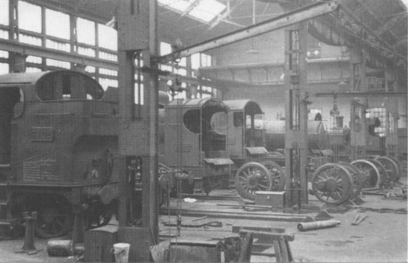
[[[45,9],[45,33],[53,37],[69,39],[69,15]]]

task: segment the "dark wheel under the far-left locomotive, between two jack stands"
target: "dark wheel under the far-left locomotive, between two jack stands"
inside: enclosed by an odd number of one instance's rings
[[[73,215],[64,208],[49,207],[38,213],[36,234],[43,239],[66,234],[73,225]]]

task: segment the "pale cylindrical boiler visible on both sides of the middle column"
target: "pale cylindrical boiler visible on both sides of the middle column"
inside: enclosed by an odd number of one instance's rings
[[[268,151],[285,147],[285,121],[266,122],[266,148]],[[327,125],[323,121],[307,121],[307,148],[327,148]]]

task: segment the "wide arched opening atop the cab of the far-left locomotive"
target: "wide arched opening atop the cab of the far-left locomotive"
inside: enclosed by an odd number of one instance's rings
[[[52,72],[37,82],[40,100],[102,99],[103,89],[92,78],[79,73]]]

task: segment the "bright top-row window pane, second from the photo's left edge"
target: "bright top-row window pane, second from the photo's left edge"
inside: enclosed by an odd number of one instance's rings
[[[41,33],[41,7],[18,1],[18,27]]]

